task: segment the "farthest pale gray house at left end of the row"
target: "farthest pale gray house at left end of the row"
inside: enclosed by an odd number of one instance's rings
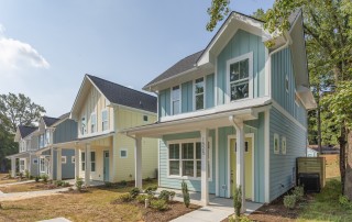
[[[22,173],[24,175],[25,170],[32,176],[38,175],[38,158],[35,155],[35,151],[37,149],[37,136],[34,134],[36,130],[37,127],[33,126],[18,126],[14,142],[19,143],[19,153],[7,156],[7,158],[11,159],[12,177],[14,177],[16,173]]]

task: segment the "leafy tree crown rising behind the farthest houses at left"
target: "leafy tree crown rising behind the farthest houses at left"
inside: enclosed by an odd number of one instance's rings
[[[0,95],[0,120],[12,133],[18,125],[33,125],[45,109],[22,93]]]

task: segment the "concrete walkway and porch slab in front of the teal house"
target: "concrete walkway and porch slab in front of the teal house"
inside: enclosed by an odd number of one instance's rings
[[[176,196],[174,200],[183,202],[183,195],[180,190],[174,189],[163,189],[158,188],[156,190],[156,195],[158,195],[162,190],[169,190],[175,191]],[[202,206],[200,201],[200,192],[189,192],[190,196],[190,203]],[[245,201],[245,214],[250,214],[261,208],[262,203],[256,203],[252,201]],[[215,195],[209,195],[209,206],[202,207],[198,210],[195,210],[190,213],[182,215],[177,219],[174,219],[174,222],[216,222],[222,221],[223,219],[228,218],[229,215],[233,214],[233,200],[229,198],[217,198]]]

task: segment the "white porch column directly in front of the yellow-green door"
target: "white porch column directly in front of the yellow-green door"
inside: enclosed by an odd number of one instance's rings
[[[237,168],[237,187],[242,188],[242,209],[241,212],[245,211],[245,180],[244,180],[244,124],[243,121],[235,123],[235,134],[237,134],[237,146],[238,152],[235,155],[235,168]]]

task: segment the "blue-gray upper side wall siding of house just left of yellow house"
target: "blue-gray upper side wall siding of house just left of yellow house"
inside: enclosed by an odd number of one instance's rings
[[[75,140],[77,140],[76,121],[67,119],[55,127],[53,135],[54,144],[70,142]]]

